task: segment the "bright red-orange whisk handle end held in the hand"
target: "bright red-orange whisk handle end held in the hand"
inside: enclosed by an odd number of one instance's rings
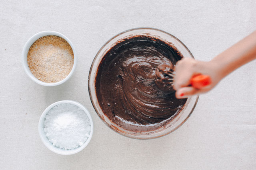
[[[190,80],[190,84],[194,88],[198,88],[198,89],[208,86],[211,83],[212,83],[211,77],[203,74],[193,76]]]

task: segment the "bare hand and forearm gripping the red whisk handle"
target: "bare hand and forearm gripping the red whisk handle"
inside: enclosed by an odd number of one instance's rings
[[[176,98],[208,92],[218,82],[236,68],[256,59],[256,31],[217,55],[212,61],[203,62],[194,59],[182,59],[176,64],[174,89]],[[190,79],[196,74],[206,74],[212,83],[201,89],[190,86]]]

